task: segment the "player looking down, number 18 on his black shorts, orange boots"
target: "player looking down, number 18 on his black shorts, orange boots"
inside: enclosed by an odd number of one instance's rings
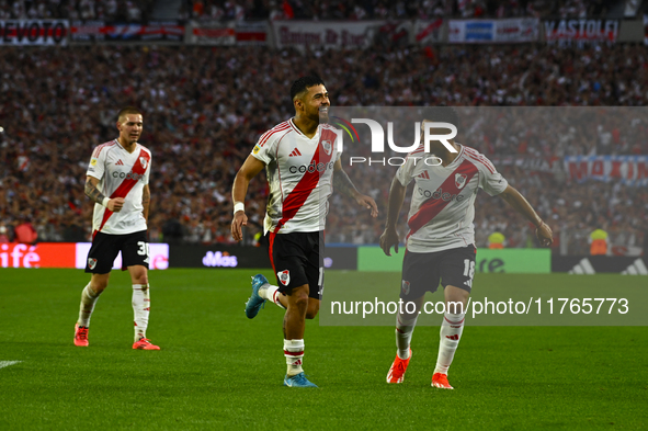
[[[456,125],[457,116],[451,107],[432,111],[433,122]],[[432,129],[443,135],[446,129]],[[398,214],[403,203],[407,185],[414,181],[408,215],[409,232],[402,262],[400,298],[414,303],[414,311],[398,314],[396,320],[396,360],[387,374],[387,383],[401,383],[411,358],[410,341],[419,310],[427,292],[435,292],[439,283],[444,287],[445,315],[441,325],[441,341],[432,386],[453,387],[447,382],[452,363],[464,329],[465,307],[473,287],[475,273],[475,199],[484,189],[489,195],[501,196],[520,214],[533,223],[543,246],[553,242],[552,229],[535,213],[528,202],[477,150],[447,141],[432,141],[430,154],[421,146],[408,155],[398,169],[389,191],[389,209],[380,247],[390,254],[398,252],[396,231]],[[454,151],[451,151],[454,149]],[[423,159],[434,158],[425,163]],[[436,165],[436,166],[430,166]],[[463,304],[463,306],[459,305]]]

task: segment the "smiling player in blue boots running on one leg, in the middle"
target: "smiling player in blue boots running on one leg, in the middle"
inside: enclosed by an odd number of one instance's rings
[[[257,316],[266,299],[286,309],[284,385],[317,387],[302,368],[304,330],[305,319],[315,318],[319,311],[323,288],[320,245],[323,246],[332,185],[371,209],[373,217],[378,215],[378,209],[374,200],[361,194],[342,170],[341,152],[336,145],[338,131],[325,124],[330,101],[321,79],[297,79],[291,88],[291,98],[295,116],[261,135],[236,175],[231,191],[235,203],[231,235],[237,241],[242,239],[241,227],[248,223],[243,204],[248,185],[265,168],[270,197],[264,231],[269,232],[269,254],[277,285],[271,285],[261,274],[252,277],[252,296],[246,304],[246,315],[250,319]]]

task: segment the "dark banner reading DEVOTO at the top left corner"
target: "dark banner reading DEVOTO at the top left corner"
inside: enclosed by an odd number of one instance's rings
[[[67,20],[0,20],[0,46],[68,44]]]

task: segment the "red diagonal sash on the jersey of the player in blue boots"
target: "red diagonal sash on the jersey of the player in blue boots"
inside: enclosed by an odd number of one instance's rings
[[[330,136],[332,135],[332,136]],[[318,148],[310,160],[309,166],[317,167],[319,163],[325,163],[325,167],[331,161],[331,157],[333,155],[333,146],[331,144],[330,152],[327,154],[322,147],[322,141],[327,140],[326,138],[330,138],[330,143],[334,143],[337,135],[329,131],[322,131],[321,138],[319,139]],[[320,158],[321,156],[321,158]],[[314,165],[315,163],[315,165]],[[317,169],[314,169],[312,172],[306,170],[302,180],[295,185],[295,189],[286,196],[282,205],[282,218],[276,224],[274,228],[274,232],[278,232],[278,230],[288,222],[291,218],[295,217],[302,205],[306,202],[310,193],[315,190],[317,184],[319,183],[320,177],[323,174],[322,172],[318,172]]]

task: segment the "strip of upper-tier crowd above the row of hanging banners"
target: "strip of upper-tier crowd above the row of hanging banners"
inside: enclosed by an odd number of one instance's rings
[[[148,22],[155,0],[0,0],[0,19]],[[178,19],[373,20],[603,16],[612,0],[183,0]]]

